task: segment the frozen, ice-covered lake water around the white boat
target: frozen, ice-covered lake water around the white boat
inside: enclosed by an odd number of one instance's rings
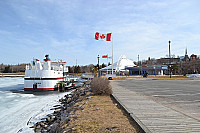
[[[34,123],[53,113],[58,100],[70,92],[25,94],[22,77],[0,77],[0,132],[34,132]],[[27,125],[28,123],[28,125]]]

